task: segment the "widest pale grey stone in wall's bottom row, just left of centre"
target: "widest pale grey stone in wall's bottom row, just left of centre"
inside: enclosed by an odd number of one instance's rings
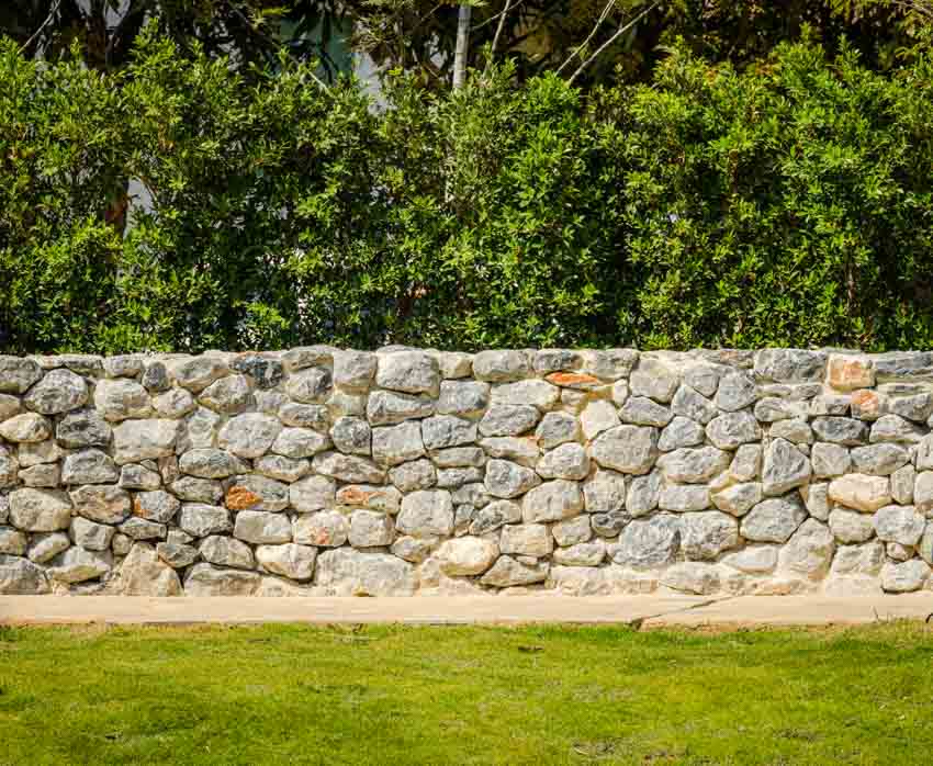
[[[397,556],[338,548],[317,556],[314,584],[329,596],[411,596],[417,578]]]

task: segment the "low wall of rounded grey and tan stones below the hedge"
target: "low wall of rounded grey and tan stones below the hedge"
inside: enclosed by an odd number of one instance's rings
[[[0,593],[933,587],[933,353],[0,357]]]

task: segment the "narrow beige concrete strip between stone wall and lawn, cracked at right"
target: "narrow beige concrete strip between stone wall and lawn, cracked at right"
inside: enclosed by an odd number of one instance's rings
[[[933,593],[863,598],[818,596],[543,596],[414,598],[137,598],[0,596],[0,624],[633,624],[762,627],[925,620]]]

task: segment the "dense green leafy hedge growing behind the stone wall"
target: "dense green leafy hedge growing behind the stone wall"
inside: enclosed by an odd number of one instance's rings
[[[153,34],[110,75],[0,43],[0,349],[926,347],[932,179],[922,55],[373,104]]]

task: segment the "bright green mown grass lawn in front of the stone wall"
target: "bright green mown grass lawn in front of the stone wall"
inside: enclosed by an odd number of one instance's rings
[[[930,764],[933,629],[0,628],[0,764]]]

